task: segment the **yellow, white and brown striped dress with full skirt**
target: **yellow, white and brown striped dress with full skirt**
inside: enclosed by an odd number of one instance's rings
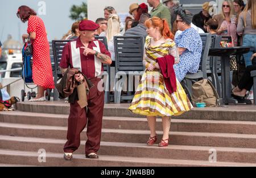
[[[150,40],[151,37],[147,36],[145,60],[153,65],[156,63],[157,58],[166,56],[168,49],[175,46],[175,42],[171,39],[167,39],[166,43],[159,46],[151,46]],[[177,90],[172,94],[168,92],[164,83],[159,84],[147,79],[152,76],[159,76],[159,74],[159,71],[147,70],[143,73],[133,101],[128,109],[136,114],[145,116],[177,116],[191,110],[193,106],[177,79]]]

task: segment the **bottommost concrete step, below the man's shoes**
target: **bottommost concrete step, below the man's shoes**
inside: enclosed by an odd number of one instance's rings
[[[72,161],[65,161],[63,154],[47,152],[46,162],[39,162],[40,154],[32,151],[0,150],[2,164],[30,164],[35,166],[256,166],[253,163],[232,163],[201,160],[177,160],[156,158],[134,158],[129,156],[101,155],[99,159],[85,158],[84,154],[74,154]],[[148,168],[150,169],[150,168]]]

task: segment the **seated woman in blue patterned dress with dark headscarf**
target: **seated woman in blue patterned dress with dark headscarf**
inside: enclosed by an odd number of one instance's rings
[[[174,70],[177,79],[181,82],[187,73],[196,73],[199,69],[203,44],[199,33],[191,27],[193,17],[191,12],[179,6],[175,13],[177,29],[183,31],[175,39],[180,62],[174,65]]]

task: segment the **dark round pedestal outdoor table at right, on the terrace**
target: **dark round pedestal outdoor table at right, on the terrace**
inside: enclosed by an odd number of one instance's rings
[[[230,62],[231,55],[243,54],[249,52],[250,47],[237,46],[228,48],[210,48],[209,56],[221,57],[221,104],[237,104],[238,101],[231,97],[231,81],[230,81]],[[218,91],[219,93],[219,91]]]

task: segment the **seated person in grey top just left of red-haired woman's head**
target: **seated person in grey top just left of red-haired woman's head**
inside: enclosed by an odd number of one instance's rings
[[[128,29],[123,35],[124,36],[143,36],[146,39],[147,32],[144,23],[150,18],[149,14],[142,14],[139,19],[139,24],[136,27]]]

